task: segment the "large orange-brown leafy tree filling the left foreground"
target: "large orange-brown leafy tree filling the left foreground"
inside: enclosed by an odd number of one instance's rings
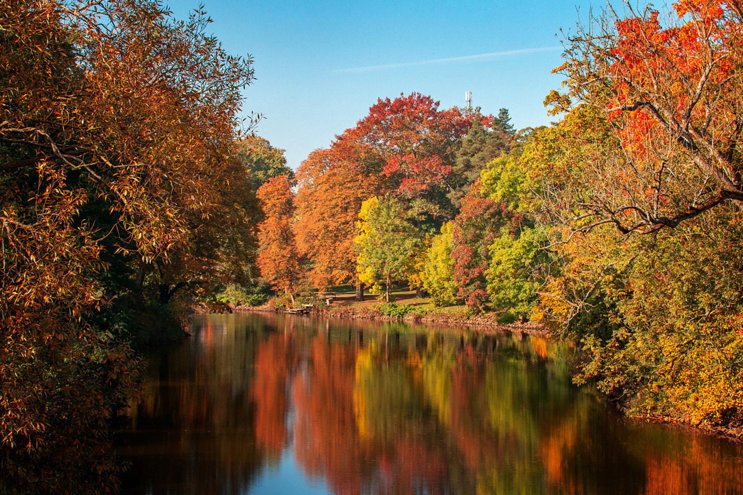
[[[120,288],[105,260],[166,263],[229,179],[253,71],[208,22],[149,0],[0,5],[0,491],[117,490],[106,425],[137,361],[92,321]]]

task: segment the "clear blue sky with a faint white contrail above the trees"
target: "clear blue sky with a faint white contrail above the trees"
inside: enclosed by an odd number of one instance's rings
[[[588,0],[237,1],[170,0],[177,18],[204,3],[210,30],[233,55],[253,57],[245,114],[286,150],[292,168],[330,145],[377,98],[418,91],[486,114],[507,108],[516,128],[545,125],[542,105],[562,76],[563,32],[586,19]],[[594,8],[603,1],[594,2]],[[557,35],[557,36],[556,36]]]

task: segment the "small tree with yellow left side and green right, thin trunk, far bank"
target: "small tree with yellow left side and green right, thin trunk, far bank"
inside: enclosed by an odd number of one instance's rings
[[[393,197],[372,197],[363,203],[359,213],[360,235],[357,270],[362,281],[385,284],[385,299],[391,301],[392,281],[402,278],[410,269],[418,248],[420,233],[406,219],[403,204]]]

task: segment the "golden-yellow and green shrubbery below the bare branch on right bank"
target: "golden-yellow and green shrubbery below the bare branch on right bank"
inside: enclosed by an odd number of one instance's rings
[[[606,392],[632,397],[637,413],[743,419],[743,267],[733,254],[743,231],[723,213],[638,240],[635,248],[644,249],[620,283],[602,279],[624,325],[610,335],[583,332],[590,353],[579,379],[597,378]]]

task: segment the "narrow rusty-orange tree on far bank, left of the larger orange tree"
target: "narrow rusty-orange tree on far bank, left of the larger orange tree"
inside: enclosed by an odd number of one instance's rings
[[[274,289],[294,294],[302,278],[302,263],[291,229],[293,205],[288,175],[272,177],[258,190],[265,220],[258,226],[259,252],[256,263]]]

